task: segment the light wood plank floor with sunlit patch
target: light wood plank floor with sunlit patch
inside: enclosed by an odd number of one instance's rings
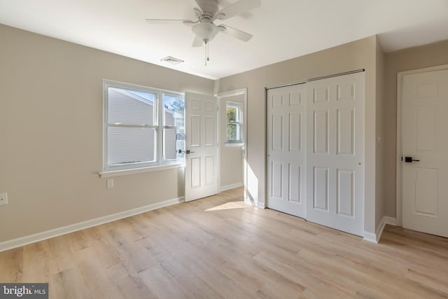
[[[448,298],[448,239],[380,244],[273,210],[241,188],[0,253],[0,282],[50,298]]]

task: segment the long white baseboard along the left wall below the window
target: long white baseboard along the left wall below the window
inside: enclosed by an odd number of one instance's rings
[[[4,242],[0,242],[0,252],[1,251],[6,251],[9,249],[14,249],[20,246],[25,246],[27,244],[31,244],[34,242],[39,242],[42,241],[44,239],[50,239],[52,237],[58,237],[60,235],[65,235],[68,234],[70,232],[76,232],[78,230],[84,230],[85,228],[92,228],[92,226],[96,226],[96,225],[100,225],[100,224],[104,224],[104,223],[108,223],[108,222],[112,222],[112,221],[116,221],[116,220],[120,220],[123,218],[127,218],[130,216],[134,216],[137,214],[141,214],[141,213],[145,213],[147,211],[153,211],[155,209],[160,209],[162,207],[168,207],[171,206],[173,204],[179,204],[180,202],[184,202],[185,199],[184,197],[178,197],[178,198],[174,198],[172,200],[165,200],[163,202],[157,202],[155,204],[148,204],[145,207],[139,207],[136,209],[130,209],[127,211],[122,211],[120,213],[116,213],[116,214],[111,214],[111,215],[107,215],[107,216],[103,216],[103,217],[99,217],[99,218],[94,218],[91,220],[87,220],[87,221],[83,221],[83,222],[79,222],[79,223],[74,223],[71,225],[66,225],[63,226],[62,228],[55,228],[53,230],[46,230],[45,232],[38,232],[34,235],[28,235],[25,237],[20,237],[17,239],[11,239],[8,241],[4,241]]]

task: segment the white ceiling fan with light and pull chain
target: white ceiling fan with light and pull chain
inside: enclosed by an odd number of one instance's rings
[[[213,40],[219,32],[235,37],[240,41],[249,41],[252,34],[243,32],[239,29],[228,25],[215,25],[215,20],[227,20],[235,15],[240,15],[253,8],[261,5],[260,0],[239,0],[234,4],[230,4],[221,10],[218,7],[218,0],[195,0],[200,8],[193,8],[196,20],[178,20],[178,19],[146,19],[149,22],[159,21],[179,21],[186,25],[193,25],[192,31],[195,34],[193,47],[200,47],[204,43],[206,45],[206,65],[208,57],[208,43]]]

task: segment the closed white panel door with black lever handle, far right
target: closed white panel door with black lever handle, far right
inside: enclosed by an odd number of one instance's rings
[[[448,70],[402,83],[402,225],[448,237]]]

